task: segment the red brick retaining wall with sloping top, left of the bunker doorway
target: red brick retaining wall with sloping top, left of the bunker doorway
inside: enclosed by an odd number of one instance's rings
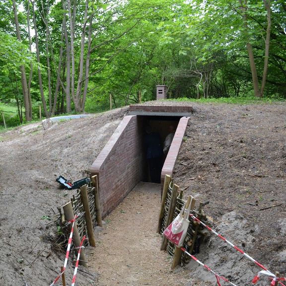
[[[110,213],[143,176],[143,128],[137,116],[125,116],[93,162],[98,175],[102,214]]]

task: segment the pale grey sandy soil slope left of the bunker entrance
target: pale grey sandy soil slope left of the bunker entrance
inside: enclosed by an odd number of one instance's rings
[[[53,217],[74,191],[60,189],[55,179],[87,176],[126,111],[60,122],[47,131],[31,124],[1,134],[1,286],[50,285],[56,278],[64,254],[53,251],[50,241],[56,227],[42,218]],[[67,277],[72,273],[69,267]],[[79,271],[80,285],[95,280],[82,274]]]

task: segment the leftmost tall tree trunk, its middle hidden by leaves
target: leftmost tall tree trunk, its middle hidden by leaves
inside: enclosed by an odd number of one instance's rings
[[[12,4],[13,4],[13,11],[14,11],[14,19],[15,19],[17,39],[19,41],[21,41],[19,21],[18,21],[18,15],[17,15],[17,7],[16,7],[15,0],[12,0]],[[25,118],[26,118],[26,121],[31,121],[32,120],[32,116],[31,116],[32,113],[30,111],[29,93],[28,93],[28,85],[27,85],[25,67],[20,66],[20,71],[21,71],[22,92],[23,92],[24,105],[25,105]]]

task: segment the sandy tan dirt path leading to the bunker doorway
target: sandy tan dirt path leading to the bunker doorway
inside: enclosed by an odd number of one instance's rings
[[[172,259],[160,251],[156,234],[160,186],[140,183],[105,218],[97,247],[87,255],[89,268],[99,273],[99,286],[186,285],[184,268],[171,271]]]

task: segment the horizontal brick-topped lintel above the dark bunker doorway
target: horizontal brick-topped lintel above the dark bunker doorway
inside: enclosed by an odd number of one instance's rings
[[[173,112],[173,113],[191,113],[193,106],[191,105],[140,105],[132,104],[129,111],[145,111],[145,112]]]

